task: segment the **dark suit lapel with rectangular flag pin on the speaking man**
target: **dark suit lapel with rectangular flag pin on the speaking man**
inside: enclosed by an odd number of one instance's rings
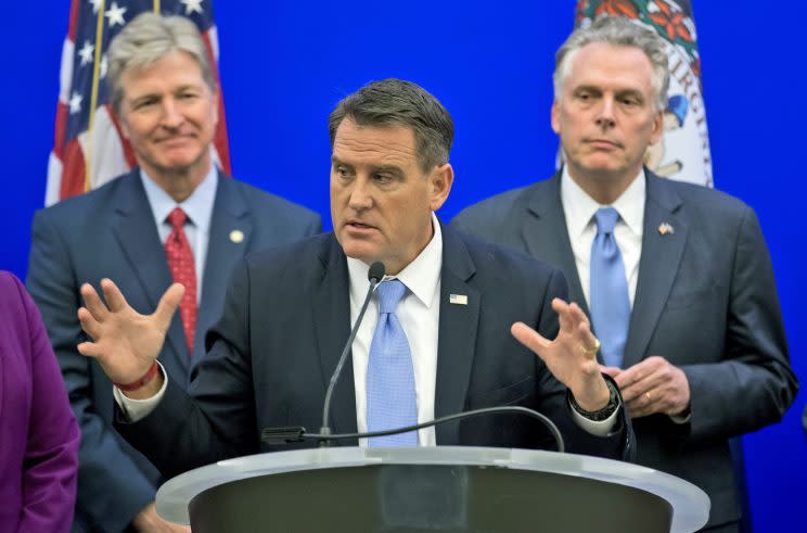
[[[443,270],[440,272],[440,318],[437,342],[435,418],[463,410],[467,394],[482,295],[467,284],[474,267],[465,245],[445,226],[443,230]],[[450,303],[450,295],[467,296],[467,305]],[[457,444],[459,423],[436,428],[437,444]]]

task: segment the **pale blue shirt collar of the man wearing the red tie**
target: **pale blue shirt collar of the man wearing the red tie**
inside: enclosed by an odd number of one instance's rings
[[[145,196],[149,200],[157,226],[165,223],[168,214],[175,207],[181,207],[190,221],[200,231],[206,233],[209,230],[210,218],[213,217],[213,204],[216,201],[216,189],[218,188],[218,170],[216,170],[214,165],[210,165],[207,176],[196,186],[191,195],[180,203],[177,203],[142,168],[140,169],[140,179],[143,182]]]

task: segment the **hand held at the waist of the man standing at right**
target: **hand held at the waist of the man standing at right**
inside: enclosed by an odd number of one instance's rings
[[[683,370],[653,355],[625,370],[601,367],[619,385],[631,418],[661,413],[682,416],[690,404],[689,380]]]

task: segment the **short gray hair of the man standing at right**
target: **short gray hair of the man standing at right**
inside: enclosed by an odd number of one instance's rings
[[[563,91],[563,83],[572,71],[572,60],[579,49],[592,42],[604,42],[615,47],[638,48],[650,60],[653,69],[651,85],[655,93],[655,107],[667,105],[669,66],[664,41],[652,30],[630,22],[624,16],[601,16],[588,27],[579,27],[568,36],[555,54],[555,71],[552,75],[555,99]]]

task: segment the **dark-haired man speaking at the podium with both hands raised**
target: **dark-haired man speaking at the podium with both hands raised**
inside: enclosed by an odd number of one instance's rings
[[[562,275],[435,217],[453,182],[453,124],[443,105],[414,84],[377,81],[340,102],[330,131],[333,233],[236,268],[188,393],[154,365],[182,288],[142,316],[111,280],[101,283],[108,307],[82,287],[79,318],[93,342],[78,350],[124,385],[117,428],[127,440],[175,474],[287,448],[261,444],[261,428],[319,427],[368,265],[381,261],[387,276],[333,398],[335,432],[523,405],[550,416],[573,452],[629,457],[629,422],[599,371],[587,318],[561,300]],[[546,435],[529,421],[491,417],[347,444],[528,447]]]

